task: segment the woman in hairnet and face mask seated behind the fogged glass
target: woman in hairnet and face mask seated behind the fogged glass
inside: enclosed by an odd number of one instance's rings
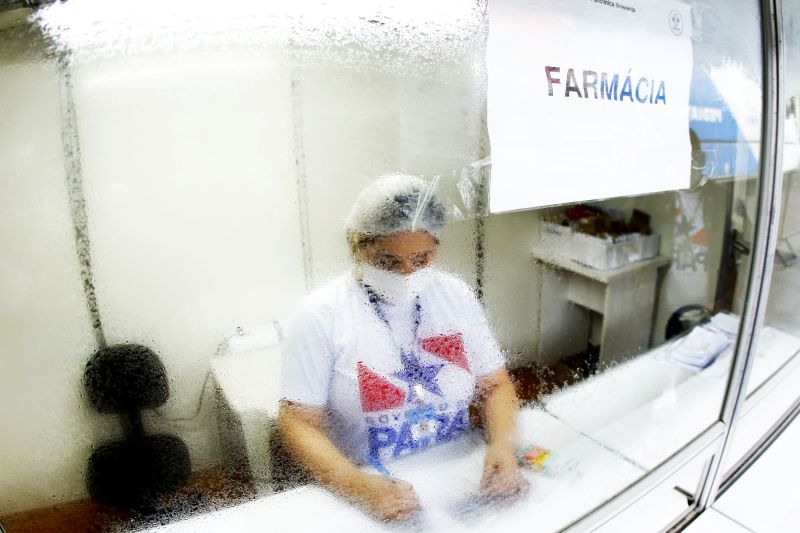
[[[387,464],[462,436],[471,403],[487,440],[480,490],[527,489],[514,456],[518,401],[483,309],[464,282],[430,267],[444,218],[422,179],[375,180],[347,219],[355,267],[310,294],[287,332],[283,445],[381,520],[420,506]]]

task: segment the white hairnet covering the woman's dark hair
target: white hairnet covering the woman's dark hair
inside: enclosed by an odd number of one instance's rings
[[[444,206],[425,180],[391,174],[377,178],[359,193],[345,224],[348,232],[427,231],[438,239],[444,219]]]

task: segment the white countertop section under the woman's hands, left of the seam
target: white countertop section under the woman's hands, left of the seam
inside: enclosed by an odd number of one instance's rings
[[[602,504],[644,472],[538,409],[520,413],[519,434],[553,451],[545,472],[526,471],[531,490],[506,508],[469,515],[454,508],[475,494],[485,445],[471,434],[446,445],[387,465],[414,485],[424,514],[414,525],[421,531],[511,531],[536,524],[553,531]],[[179,533],[206,531],[397,531],[366,516],[316,485],[259,498],[147,530]]]

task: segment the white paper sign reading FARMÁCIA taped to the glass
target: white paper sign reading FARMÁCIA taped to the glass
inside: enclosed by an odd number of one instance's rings
[[[691,17],[677,1],[492,0],[492,212],[689,186]]]

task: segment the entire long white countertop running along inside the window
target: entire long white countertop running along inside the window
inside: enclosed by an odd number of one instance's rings
[[[545,409],[520,412],[520,445],[552,450],[544,472],[526,471],[531,491],[513,506],[469,516],[454,510],[475,494],[485,444],[478,433],[390,463],[414,485],[424,514],[421,531],[510,531],[536,524],[563,528],[666,459],[719,414],[730,355],[702,371],[657,357],[669,344],[551,395]],[[753,391],[800,349],[800,339],[771,328],[761,334],[748,386]],[[311,512],[310,512],[311,511]],[[329,491],[309,485],[151,532],[398,530],[376,522]]]

